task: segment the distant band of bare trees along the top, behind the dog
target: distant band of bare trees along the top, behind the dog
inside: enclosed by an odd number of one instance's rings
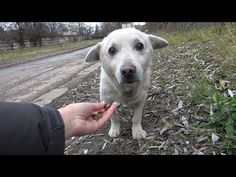
[[[68,37],[75,42],[81,39],[103,38],[115,29],[135,27],[148,33],[157,31],[179,31],[202,28],[225,23],[212,22],[146,22],[143,26],[132,25],[131,22],[101,22],[95,27],[82,22],[8,22],[0,23],[0,50],[14,50],[28,46],[47,45],[44,39],[60,43],[58,38]],[[55,42],[57,41],[57,42]]]

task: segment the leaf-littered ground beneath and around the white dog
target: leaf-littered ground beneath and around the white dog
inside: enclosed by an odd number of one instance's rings
[[[220,146],[223,137],[214,129],[199,128],[209,119],[209,105],[189,99],[193,98],[191,93],[196,93],[191,91],[198,83],[220,73],[215,69],[213,49],[210,42],[188,42],[170,44],[155,51],[142,119],[147,132],[145,140],[132,139],[132,110],[122,105],[118,110],[121,120],[119,137],[108,136],[110,122],[107,122],[95,134],[67,140],[65,154],[225,154]],[[99,76],[100,68],[83,81],[73,78],[68,91],[48,106],[59,108],[74,102],[98,102]],[[231,82],[235,83],[233,79]],[[211,92],[210,88],[207,91]],[[200,91],[200,95],[207,91]],[[213,137],[216,139],[212,140]]]

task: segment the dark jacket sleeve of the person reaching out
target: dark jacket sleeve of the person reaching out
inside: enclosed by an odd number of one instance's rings
[[[64,154],[64,122],[57,109],[0,102],[0,154]]]

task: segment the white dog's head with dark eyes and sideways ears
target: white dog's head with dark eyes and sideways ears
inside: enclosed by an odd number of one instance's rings
[[[110,33],[95,45],[85,61],[101,61],[109,77],[119,84],[138,83],[151,67],[153,49],[163,48],[168,42],[134,28],[124,28]]]

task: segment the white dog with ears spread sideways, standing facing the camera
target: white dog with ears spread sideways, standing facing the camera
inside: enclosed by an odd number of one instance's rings
[[[168,42],[134,28],[110,33],[95,45],[85,61],[101,62],[100,99],[107,103],[119,102],[133,106],[132,135],[134,139],[146,137],[141,125],[143,106],[150,84],[153,49],[163,48]],[[116,114],[111,118],[110,137],[120,134]]]

